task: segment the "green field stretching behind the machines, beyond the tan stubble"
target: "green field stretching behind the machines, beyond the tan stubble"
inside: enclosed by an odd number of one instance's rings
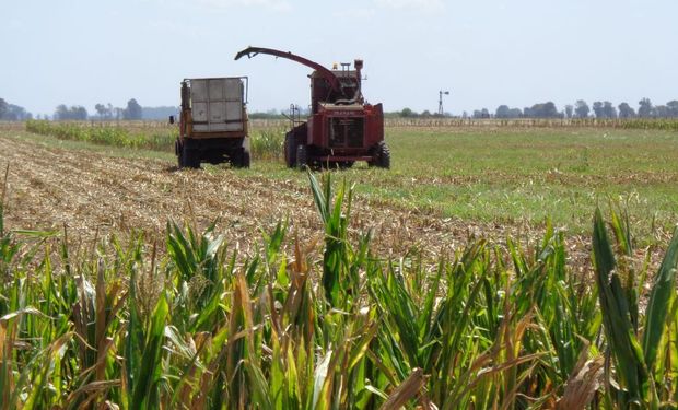
[[[114,147],[147,147],[172,159],[175,133],[87,124],[28,122],[31,131]],[[174,131],[174,128],[167,130]],[[261,178],[303,178],[281,160],[283,128],[252,132],[253,171]],[[639,236],[678,220],[678,133],[616,128],[395,127],[386,140],[388,173],[344,172],[377,207],[502,226],[542,226],[550,218],[584,232],[594,204],[627,203]],[[166,153],[166,154],[164,154]],[[212,169],[211,167],[207,167]],[[219,168],[210,172],[223,172]]]

